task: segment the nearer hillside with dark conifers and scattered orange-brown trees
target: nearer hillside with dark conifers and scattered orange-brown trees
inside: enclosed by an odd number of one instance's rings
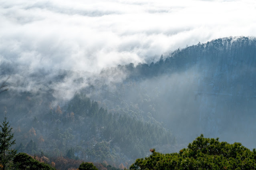
[[[5,93],[2,108],[14,128],[18,152],[127,166],[147,155],[148,148],[169,148],[174,142],[160,125],[109,113],[85,95],[76,94],[63,109],[30,93],[14,96],[12,107],[11,96],[12,91]]]

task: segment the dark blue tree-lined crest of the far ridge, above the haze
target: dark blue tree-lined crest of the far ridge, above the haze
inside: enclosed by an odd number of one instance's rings
[[[177,49],[164,57],[161,55],[155,63],[139,63],[136,66],[130,63],[129,65],[119,65],[119,67],[129,72],[128,80],[146,79],[163,73],[184,71],[194,65],[197,65],[197,67],[221,68],[222,70],[231,66],[253,67],[256,62],[254,57],[255,46],[255,38],[219,38],[207,43],[199,42],[197,45]],[[243,72],[243,74],[246,74],[246,72]]]

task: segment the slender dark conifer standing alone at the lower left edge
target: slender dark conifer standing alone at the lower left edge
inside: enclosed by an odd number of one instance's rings
[[[12,127],[10,127],[9,121],[5,115],[2,125],[0,125],[0,163],[3,170],[7,169],[7,166],[12,164],[12,160],[16,155],[16,150],[11,149],[11,146],[15,144],[15,140],[12,140],[13,133]]]

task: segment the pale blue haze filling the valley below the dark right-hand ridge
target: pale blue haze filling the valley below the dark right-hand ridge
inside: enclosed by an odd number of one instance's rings
[[[154,109],[149,109],[149,104],[144,101],[145,105],[140,105],[141,110],[149,111],[157,121],[171,129],[177,142],[183,144],[183,147],[204,134],[208,138],[220,137],[222,141],[241,142],[250,149],[255,148],[255,128],[252,121],[255,118],[255,93],[247,93],[244,83],[237,80],[236,85],[243,89],[242,93],[238,89],[229,91],[229,85],[221,87],[222,81],[215,82],[220,83],[218,86],[221,89],[216,93],[208,85],[207,79],[210,77],[204,71],[206,70],[192,67],[179,73],[142,81],[138,85],[145,89],[141,100],[151,100],[149,103],[154,103]],[[207,74],[211,71],[208,70]],[[138,91],[128,91],[127,94],[126,100],[140,102],[136,95],[139,94]],[[177,151],[180,147],[177,147]]]

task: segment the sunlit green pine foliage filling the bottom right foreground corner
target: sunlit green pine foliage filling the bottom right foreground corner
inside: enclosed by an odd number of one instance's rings
[[[250,151],[241,143],[228,144],[218,138],[199,136],[179,153],[161,154],[151,150],[148,158],[137,159],[130,169],[256,169],[256,150]]]

